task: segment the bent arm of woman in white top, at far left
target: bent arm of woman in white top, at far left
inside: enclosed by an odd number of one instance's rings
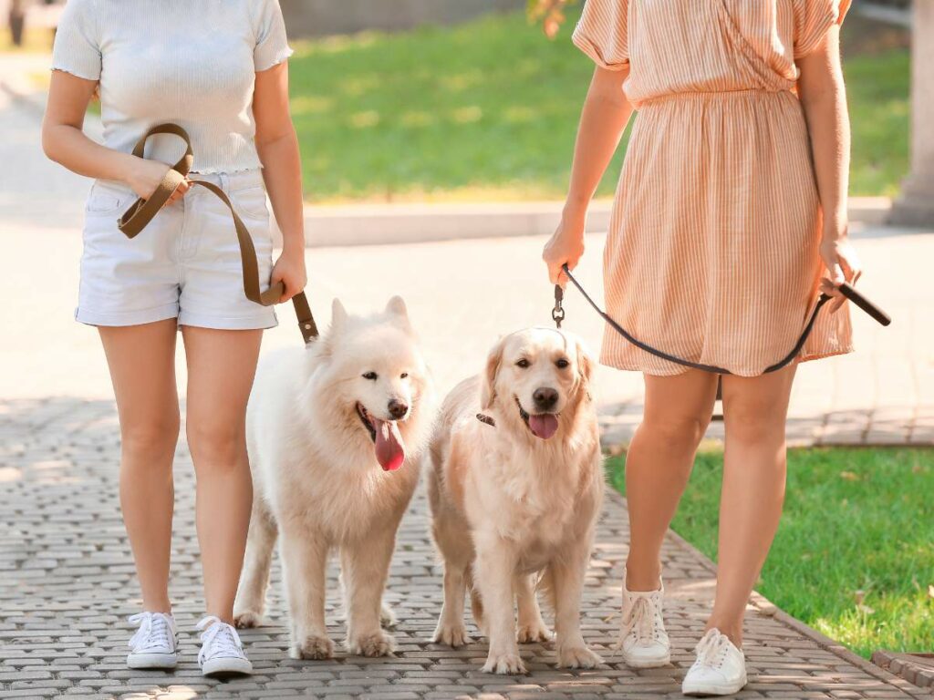
[[[94,80],[52,71],[49,103],[42,119],[42,149],[52,161],[78,175],[124,182],[145,199],[159,187],[169,166],[101,146],[84,134],[84,115],[96,85]],[[189,184],[182,183],[165,205],[188,189]]]

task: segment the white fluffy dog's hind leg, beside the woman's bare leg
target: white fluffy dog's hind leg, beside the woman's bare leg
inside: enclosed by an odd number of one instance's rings
[[[276,546],[277,527],[272,513],[257,494],[253,497],[253,514],[249,520],[247,554],[244,559],[240,586],[233,603],[233,620],[237,627],[262,624],[269,587],[269,567]]]

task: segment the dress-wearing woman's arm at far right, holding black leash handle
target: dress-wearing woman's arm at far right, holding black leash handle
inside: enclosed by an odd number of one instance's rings
[[[829,278],[821,290],[838,297],[832,310],[844,298],[837,285],[856,282],[860,274],[856,251],[849,241],[846,212],[850,172],[850,117],[840,65],[840,27],[833,26],[824,43],[798,62],[798,92],[804,119],[811,136],[814,177],[823,211],[820,253]]]

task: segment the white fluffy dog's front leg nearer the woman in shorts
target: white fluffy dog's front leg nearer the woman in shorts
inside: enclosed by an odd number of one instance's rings
[[[324,622],[328,544],[301,524],[283,526],[280,550],[282,576],[291,621],[293,659],[329,659],[334,645]]]

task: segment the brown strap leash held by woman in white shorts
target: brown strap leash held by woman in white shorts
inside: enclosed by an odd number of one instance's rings
[[[169,168],[169,171],[159,183],[159,187],[149,195],[149,199],[138,199],[123,216],[120,217],[118,228],[127,238],[134,238],[137,233],[146,228],[149,221],[155,217],[159,210],[163,208],[169,197],[175,192],[177,187],[185,181],[191,172],[191,164],[194,162],[194,152],[191,150],[191,138],[188,133],[177,124],[159,124],[152,127],[136,143],[133,149],[133,155],[143,158],[146,142],[149,136],[157,133],[170,133],[177,136],[185,142],[185,154],[177,161],[175,165]],[[198,185],[209,189],[223,202],[231,212],[233,219],[233,229],[236,231],[237,243],[240,244],[240,262],[243,270],[243,291],[249,301],[260,304],[261,306],[273,306],[282,299],[285,293],[285,286],[281,282],[271,285],[265,291],[260,291],[260,265],[256,258],[256,248],[253,245],[253,239],[250,238],[247,226],[233,209],[233,204],[227,197],[223,189],[220,189],[212,182],[205,180],[191,180],[192,185]],[[318,326],[315,324],[315,317],[311,314],[311,307],[308,305],[308,299],[304,291],[300,291],[292,297],[292,305],[295,307],[295,315],[298,317],[298,328],[302,332],[304,343],[311,343],[318,337]]]

